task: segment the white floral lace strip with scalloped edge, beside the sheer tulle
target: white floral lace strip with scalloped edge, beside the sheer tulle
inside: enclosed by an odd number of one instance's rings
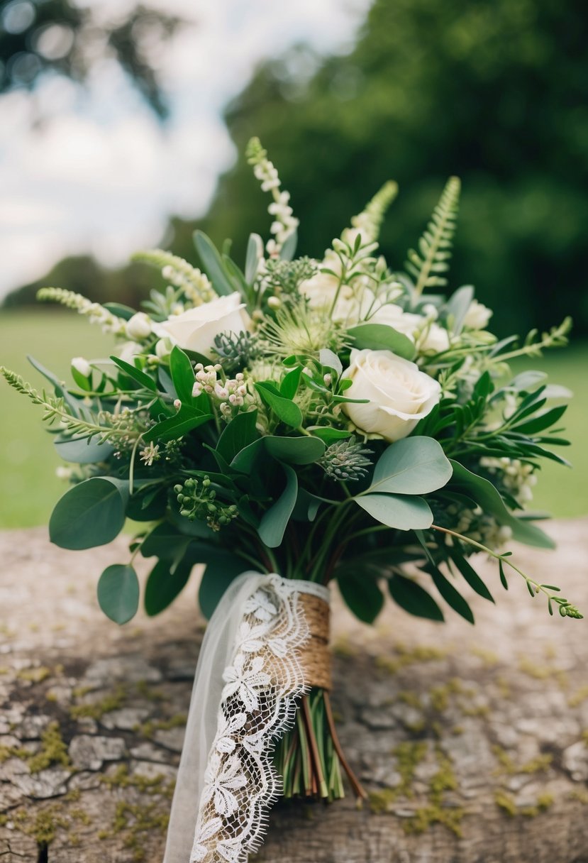
[[[309,629],[301,593],[328,602],[328,589],[319,584],[272,575],[242,607],[190,863],[247,863],[263,841],[268,810],[281,793],[273,746],[291,727],[305,690],[298,657]]]

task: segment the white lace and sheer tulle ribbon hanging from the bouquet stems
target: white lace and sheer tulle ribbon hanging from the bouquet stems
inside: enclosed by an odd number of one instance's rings
[[[319,584],[244,573],[210,619],[198,659],[164,863],[247,863],[281,793],[275,741],[307,689],[303,594]]]

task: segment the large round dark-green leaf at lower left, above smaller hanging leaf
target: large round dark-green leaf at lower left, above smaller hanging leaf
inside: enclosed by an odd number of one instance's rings
[[[66,491],[49,520],[49,538],[72,550],[106,545],[122,531],[128,482],[93,476]]]

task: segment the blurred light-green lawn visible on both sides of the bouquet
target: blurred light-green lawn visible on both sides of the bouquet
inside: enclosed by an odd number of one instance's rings
[[[35,387],[44,379],[27,362],[31,354],[60,378],[69,379],[72,356],[108,356],[112,340],[75,313],[55,310],[0,313],[0,365],[22,375]],[[555,350],[543,359],[516,365],[544,369],[549,380],[569,387],[575,398],[564,420],[572,446],[560,453],[573,469],[548,463],[535,487],[535,508],[558,517],[588,513],[588,344]],[[67,485],[55,476],[60,460],[41,424],[41,409],[0,382],[0,527],[47,523],[55,501]]]

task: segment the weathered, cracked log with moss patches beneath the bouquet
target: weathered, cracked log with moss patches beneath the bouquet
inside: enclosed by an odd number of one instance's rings
[[[588,521],[551,532],[558,551],[519,547],[517,562],[588,611]],[[95,590],[124,538],[74,553],[42,529],[3,532],[0,555],[0,859],[160,863],[197,578],[164,614],[116,627]],[[588,861],[586,624],[550,618],[515,574],[505,593],[483,565],[497,606],[473,595],[476,627],[391,602],[366,627],[335,599],[336,718],[369,801],[278,804],[255,860]]]

